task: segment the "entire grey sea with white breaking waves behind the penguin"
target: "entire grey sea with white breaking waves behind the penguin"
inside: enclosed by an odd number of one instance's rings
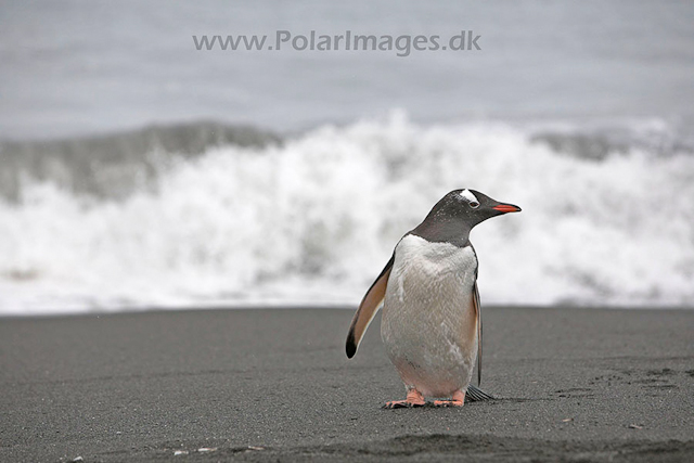
[[[355,306],[448,191],[484,304],[694,305],[686,2],[0,4],[0,314]],[[193,35],[480,51],[197,51]]]

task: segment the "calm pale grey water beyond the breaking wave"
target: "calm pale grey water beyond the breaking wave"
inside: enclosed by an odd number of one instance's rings
[[[403,108],[417,121],[693,116],[679,0],[0,2],[0,138],[218,119],[279,131]],[[193,36],[439,35],[477,51],[196,50]]]

